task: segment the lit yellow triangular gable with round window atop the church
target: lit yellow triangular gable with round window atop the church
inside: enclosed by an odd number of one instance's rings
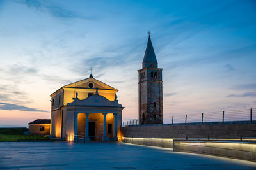
[[[89,83],[92,83],[93,89],[99,88],[99,89],[109,89],[109,90],[116,90],[114,87],[111,87],[110,85],[107,85],[106,83],[103,83],[102,81],[96,80],[95,78],[86,78],[84,80],[76,81],[74,83],[70,83],[68,85],[65,85],[63,87],[81,87],[81,88],[91,88]]]

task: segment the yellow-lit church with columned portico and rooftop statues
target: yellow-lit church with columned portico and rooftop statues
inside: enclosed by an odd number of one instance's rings
[[[124,107],[118,104],[116,92],[92,74],[56,90],[51,94],[51,136],[117,140]]]

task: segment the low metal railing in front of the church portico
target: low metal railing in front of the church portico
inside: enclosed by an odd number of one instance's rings
[[[103,136],[88,136],[90,138],[90,141],[102,141]],[[108,138],[108,137],[107,137]],[[66,135],[66,141],[70,143],[86,143],[86,136],[84,135],[72,135],[72,134],[67,134]],[[108,140],[109,141],[109,138]]]

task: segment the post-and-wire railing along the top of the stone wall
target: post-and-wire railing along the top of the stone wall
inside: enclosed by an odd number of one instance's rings
[[[255,123],[256,109],[241,109],[228,111],[214,111],[205,113],[176,113],[170,114],[170,119],[164,119],[164,124],[169,125],[187,125],[187,124],[228,124],[229,122],[244,122],[248,124]],[[130,125],[139,125],[137,119],[122,122],[122,127]]]

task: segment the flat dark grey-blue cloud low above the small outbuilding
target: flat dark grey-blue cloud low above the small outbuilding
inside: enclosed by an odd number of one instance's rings
[[[36,111],[36,112],[48,112],[46,110],[39,110],[35,108],[28,108],[18,104],[3,103],[0,102],[0,110],[20,110],[20,111]]]

